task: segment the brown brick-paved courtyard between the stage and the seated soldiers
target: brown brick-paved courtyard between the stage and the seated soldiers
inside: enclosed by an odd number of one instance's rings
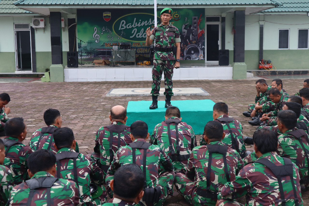
[[[175,80],[174,87],[201,87],[209,96],[175,96],[173,100],[201,100],[211,99],[214,102],[224,101],[229,106],[230,116],[239,120],[243,125],[243,135],[252,136],[256,127],[248,124],[251,120],[242,115],[247,111],[248,104],[254,103],[256,95],[254,79],[250,80]],[[271,79],[267,79],[271,84]],[[48,108],[58,109],[62,116],[62,126],[70,127],[74,131],[80,152],[91,153],[94,147],[94,136],[101,126],[110,124],[108,115],[114,105],[127,106],[128,101],[151,100],[151,97],[106,97],[112,88],[149,88],[150,81],[139,82],[64,82],[41,83],[0,83],[1,92],[10,94],[10,118],[23,117],[27,124],[28,144],[32,133],[45,126],[43,113]],[[164,88],[164,85],[162,85]],[[290,95],[303,87],[303,79],[284,79],[283,88]],[[163,91],[162,91],[163,92]],[[159,97],[164,100],[164,97]],[[164,114],[162,114],[162,118]],[[186,121],[183,119],[183,121]],[[197,119],[196,121],[203,121]],[[159,123],[159,122],[158,122]],[[205,122],[206,123],[206,122]],[[201,134],[197,134],[197,140]],[[253,150],[252,145],[247,146]],[[303,193],[304,205],[309,206],[309,191]],[[243,202],[243,198],[241,199]],[[178,195],[167,200],[164,205],[184,205],[184,199]]]

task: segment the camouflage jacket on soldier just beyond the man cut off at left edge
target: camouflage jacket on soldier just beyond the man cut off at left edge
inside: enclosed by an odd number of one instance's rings
[[[18,185],[28,179],[27,159],[33,151],[28,145],[24,145],[20,140],[14,137],[6,136],[5,139],[18,142],[8,149],[3,163],[3,165],[11,170],[14,185]],[[4,146],[4,148],[6,149],[6,146]]]

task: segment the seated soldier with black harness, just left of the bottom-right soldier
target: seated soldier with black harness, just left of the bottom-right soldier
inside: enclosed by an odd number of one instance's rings
[[[243,161],[238,152],[221,143],[225,138],[222,124],[210,121],[204,133],[208,144],[193,148],[186,174],[176,174],[175,186],[189,204],[215,206],[218,191],[235,179]]]

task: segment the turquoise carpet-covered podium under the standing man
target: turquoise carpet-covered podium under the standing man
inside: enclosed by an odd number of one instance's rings
[[[158,109],[149,109],[152,101],[129,101],[127,107],[128,120],[126,125],[130,126],[136,120],[142,120],[148,125],[148,132],[152,134],[157,124],[164,121],[165,101],[158,101]],[[180,100],[171,101],[173,106],[180,109],[182,121],[191,125],[196,135],[203,134],[205,124],[213,120],[212,100]]]

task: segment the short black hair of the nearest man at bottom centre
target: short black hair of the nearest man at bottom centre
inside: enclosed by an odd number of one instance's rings
[[[114,174],[114,193],[123,199],[136,198],[144,181],[143,171],[138,165],[123,165]]]

